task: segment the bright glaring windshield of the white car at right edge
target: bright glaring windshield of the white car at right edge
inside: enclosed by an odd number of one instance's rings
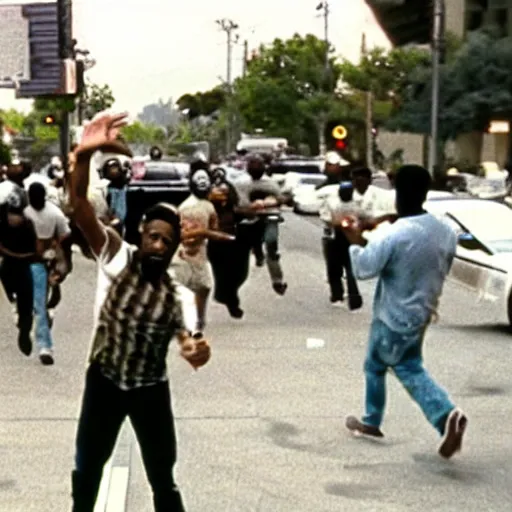
[[[472,202],[450,212],[496,253],[512,252],[512,209],[500,203]]]

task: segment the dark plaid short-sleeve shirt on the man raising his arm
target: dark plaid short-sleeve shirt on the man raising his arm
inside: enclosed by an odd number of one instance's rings
[[[126,250],[123,246],[122,250]],[[167,380],[172,338],[185,330],[182,304],[168,274],[144,279],[137,252],[110,284],[97,312],[89,361],[121,389]]]

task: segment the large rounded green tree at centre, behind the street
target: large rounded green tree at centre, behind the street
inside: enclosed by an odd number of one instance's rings
[[[248,62],[246,75],[235,81],[234,102],[243,129],[260,128],[286,137],[294,146],[310,142],[313,133],[318,148],[325,123],[339,102],[339,77],[334,49],[314,35],[296,34],[261,46]]]

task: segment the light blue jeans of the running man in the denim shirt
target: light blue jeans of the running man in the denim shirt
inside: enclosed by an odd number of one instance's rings
[[[411,398],[420,406],[432,426],[444,434],[446,419],[454,408],[448,394],[423,367],[422,345],[425,330],[404,336],[375,319],[370,330],[364,364],[366,414],[363,423],[380,427],[386,406],[386,372],[391,369]]]

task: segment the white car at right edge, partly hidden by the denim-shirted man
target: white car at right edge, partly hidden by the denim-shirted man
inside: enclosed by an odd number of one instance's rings
[[[430,213],[450,224],[459,243],[449,278],[496,304],[512,324],[512,210],[485,199],[437,199]]]

